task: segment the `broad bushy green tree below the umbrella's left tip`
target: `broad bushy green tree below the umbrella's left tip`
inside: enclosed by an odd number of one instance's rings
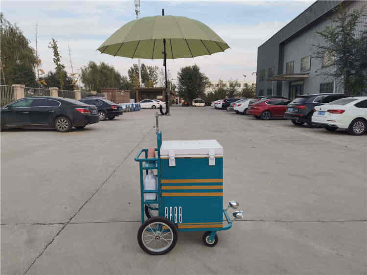
[[[103,87],[122,87],[122,76],[112,65],[104,62],[97,65],[90,61],[87,66],[80,70],[80,80],[91,91],[100,92]]]

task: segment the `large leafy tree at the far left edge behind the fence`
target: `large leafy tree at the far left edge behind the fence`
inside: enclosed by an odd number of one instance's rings
[[[0,41],[2,84],[25,84],[34,87],[36,85],[34,69],[37,61],[35,50],[29,46],[29,41],[24,37],[22,30],[16,24],[13,25],[7,21],[2,13],[0,14]]]

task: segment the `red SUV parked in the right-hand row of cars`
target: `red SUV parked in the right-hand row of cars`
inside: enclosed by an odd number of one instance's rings
[[[251,110],[247,110],[247,114],[256,118],[268,120],[271,117],[284,117],[287,110],[287,104],[291,101],[288,98],[271,98],[260,100],[252,105]]]

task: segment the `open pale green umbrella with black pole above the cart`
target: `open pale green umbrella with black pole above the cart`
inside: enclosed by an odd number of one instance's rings
[[[130,58],[163,59],[166,114],[169,113],[166,59],[223,52],[229,46],[200,21],[183,16],[143,17],[119,28],[101,46],[101,53]]]

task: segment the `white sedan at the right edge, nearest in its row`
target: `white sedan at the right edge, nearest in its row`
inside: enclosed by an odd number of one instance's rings
[[[367,131],[367,96],[345,97],[316,106],[312,123],[327,131],[341,128],[351,135],[363,135]]]

